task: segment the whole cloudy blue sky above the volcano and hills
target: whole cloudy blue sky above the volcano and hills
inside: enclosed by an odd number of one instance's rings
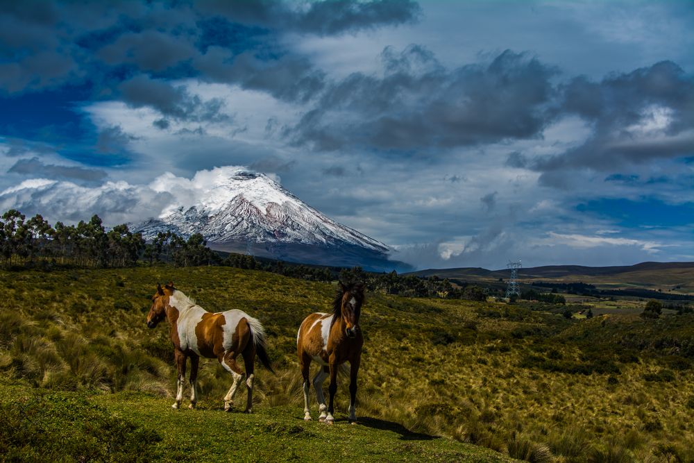
[[[691,1],[3,2],[0,208],[241,165],[420,268],[694,260],[693,49]]]

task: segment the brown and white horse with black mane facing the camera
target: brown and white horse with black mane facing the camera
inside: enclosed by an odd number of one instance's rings
[[[339,365],[350,362],[350,405],[349,421],[357,422],[355,400],[357,398],[357,372],[362,355],[364,337],[359,328],[359,314],[364,303],[364,284],[343,285],[332,304],[332,314],[314,313],[304,319],[296,336],[296,350],[301,364],[304,392],[304,419],[310,420],[308,393],[311,362],[321,369],[313,378],[313,387],[318,399],[319,421],[332,424],[335,421],[333,401],[337,392],[337,370]],[[325,407],[323,381],[330,374],[330,404]]]

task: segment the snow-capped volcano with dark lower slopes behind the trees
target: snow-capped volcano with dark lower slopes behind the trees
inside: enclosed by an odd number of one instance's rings
[[[204,175],[177,185],[185,194],[176,196],[185,196],[188,204],[168,208],[134,229],[145,239],[166,230],[184,236],[201,233],[214,249],[316,264],[387,259],[385,244],[326,217],[269,176],[239,167],[217,167]],[[180,181],[164,175],[151,187],[171,192],[167,179]]]

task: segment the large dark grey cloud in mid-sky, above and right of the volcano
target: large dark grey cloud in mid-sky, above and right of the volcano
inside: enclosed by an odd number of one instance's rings
[[[446,149],[536,137],[554,115],[557,71],[526,53],[449,70],[413,45],[385,49],[382,62],[382,77],[355,73],[326,88],[289,135],[328,151]]]

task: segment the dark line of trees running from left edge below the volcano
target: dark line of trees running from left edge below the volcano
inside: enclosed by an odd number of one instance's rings
[[[361,280],[371,291],[407,297],[459,298],[484,301],[489,289],[438,276],[366,272],[361,267],[316,267],[281,260],[259,259],[230,253],[223,257],[207,246],[203,235],[185,238],[171,231],[160,232],[146,242],[141,233],[132,233],[126,224],[106,229],[98,215],[76,225],[56,222],[51,226],[41,214],[27,219],[11,209],[0,220],[0,251],[3,266],[118,268],[168,264],[174,267],[223,265],[239,269],[270,271],[284,276],[314,281]]]

